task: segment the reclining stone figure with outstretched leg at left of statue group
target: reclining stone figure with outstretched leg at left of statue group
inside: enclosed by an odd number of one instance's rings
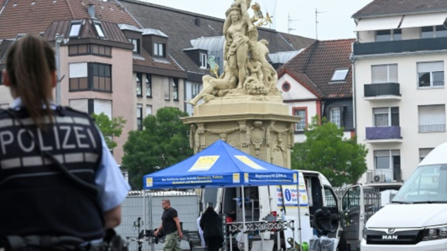
[[[192,100],[186,101],[191,105],[197,105],[198,100],[211,95],[211,92],[217,90],[234,89],[237,84],[237,78],[234,72],[230,69],[228,63],[225,64],[224,72],[220,75],[219,79],[215,79],[209,75],[205,75],[202,78],[203,89]]]

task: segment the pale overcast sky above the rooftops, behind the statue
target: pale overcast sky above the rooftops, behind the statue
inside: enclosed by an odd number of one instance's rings
[[[225,18],[225,11],[233,0],[144,0],[172,8]],[[372,0],[253,0],[265,14],[273,15],[270,28],[287,33],[288,15],[292,21],[290,33],[315,38],[315,9],[318,9],[318,39],[355,38],[352,14]],[[275,10],[276,3],[276,10]],[[251,10],[251,9],[250,9]],[[268,26],[267,26],[268,27]]]

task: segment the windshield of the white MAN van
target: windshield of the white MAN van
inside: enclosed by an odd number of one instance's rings
[[[392,202],[447,203],[447,165],[417,167]]]

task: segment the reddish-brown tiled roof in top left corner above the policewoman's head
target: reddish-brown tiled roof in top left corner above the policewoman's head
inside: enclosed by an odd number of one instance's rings
[[[9,1],[0,14],[0,38],[15,38],[18,33],[44,32],[53,21],[90,18],[87,8],[95,4],[98,20],[114,23],[138,23],[114,2],[98,0]]]

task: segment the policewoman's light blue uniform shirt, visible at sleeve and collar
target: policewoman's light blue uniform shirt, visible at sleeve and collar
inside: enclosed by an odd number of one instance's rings
[[[11,108],[18,109],[21,105],[21,99],[17,98],[11,104]],[[55,109],[56,106],[51,104],[51,108]],[[105,212],[121,205],[131,187],[124,180],[118,164],[107,147],[104,136],[99,129],[98,131],[102,141],[102,159],[96,172],[95,183],[99,188],[98,196],[101,201],[102,210]]]

